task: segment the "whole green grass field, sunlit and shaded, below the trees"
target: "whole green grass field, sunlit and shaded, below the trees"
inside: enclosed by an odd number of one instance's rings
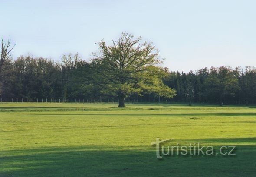
[[[256,107],[116,106],[0,104],[0,177],[256,176]],[[158,160],[156,138],[235,145],[236,155]]]

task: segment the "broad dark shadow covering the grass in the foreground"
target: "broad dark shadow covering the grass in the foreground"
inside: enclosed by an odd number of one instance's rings
[[[191,140],[189,140],[191,141]],[[203,139],[236,142],[253,139]],[[223,144],[225,145],[225,144]],[[2,151],[0,176],[255,176],[256,145],[237,155],[173,156],[158,160],[155,147],[70,146]]]

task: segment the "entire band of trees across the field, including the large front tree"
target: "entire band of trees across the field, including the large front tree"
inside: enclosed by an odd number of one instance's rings
[[[1,101],[256,104],[255,66],[170,71],[159,65],[151,42],[126,33],[109,46],[100,41],[90,60],[79,54],[63,55],[61,62],[30,55],[13,59],[15,45],[2,40],[1,46]]]

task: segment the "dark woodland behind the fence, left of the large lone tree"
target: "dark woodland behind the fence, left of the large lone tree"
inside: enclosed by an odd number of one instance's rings
[[[63,55],[62,62],[42,57],[21,56],[16,60],[10,60],[8,70],[5,70],[5,77],[1,80],[0,98],[13,98],[20,101],[42,99],[48,101],[65,99],[86,101],[118,101],[116,95],[102,92],[101,85],[95,84],[93,63],[81,60],[78,54]],[[99,79],[99,78],[98,78]],[[67,83],[67,86],[66,86]],[[150,97],[150,99],[148,99]],[[127,100],[137,101],[158,101],[158,95],[147,94],[145,96],[131,95]]]

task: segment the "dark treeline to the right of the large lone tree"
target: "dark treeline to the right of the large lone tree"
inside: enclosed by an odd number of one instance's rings
[[[177,91],[176,102],[222,104],[256,103],[256,68],[228,66],[203,68],[189,73],[168,72],[164,83]]]

